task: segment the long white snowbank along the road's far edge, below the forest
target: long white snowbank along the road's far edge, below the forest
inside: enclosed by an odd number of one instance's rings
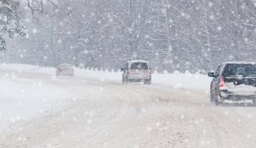
[[[33,73],[46,73],[49,75],[55,75],[56,70],[55,68],[39,67],[27,64],[0,64],[0,69],[19,70]],[[103,70],[76,68],[75,75],[85,78],[96,78],[101,81],[122,81],[122,73],[114,71],[109,72]],[[174,88],[209,90],[210,82],[211,78],[200,73],[179,73],[176,71],[174,73],[154,73],[152,75],[152,84]]]

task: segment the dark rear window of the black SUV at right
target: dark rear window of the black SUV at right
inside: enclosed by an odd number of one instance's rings
[[[256,64],[227,64],[223,71],[224,77],[256,76]]]

